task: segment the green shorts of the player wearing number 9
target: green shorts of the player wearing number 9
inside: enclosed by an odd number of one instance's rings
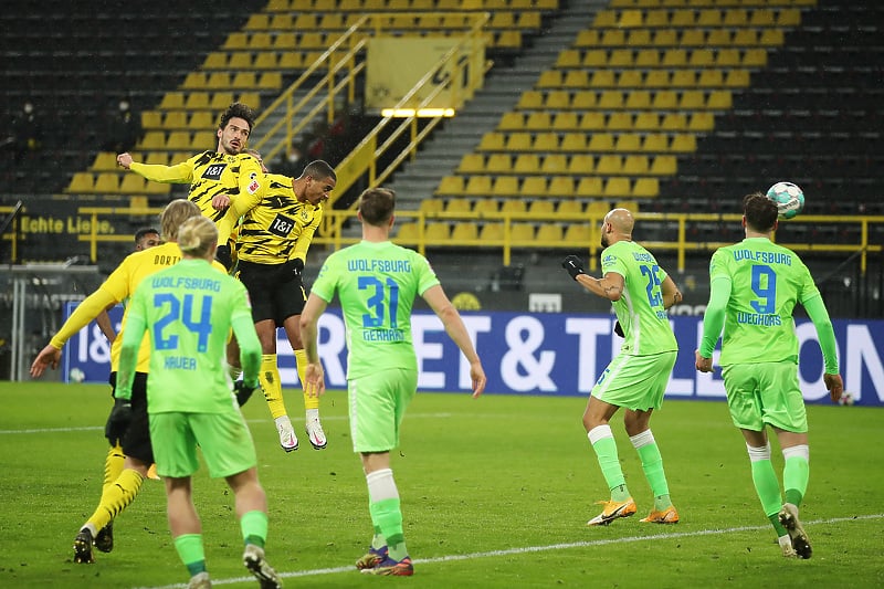
[[[794,362],[735,364],[722,369],[734,425],[761,431],[769,423],[804,433],[808,414]]]

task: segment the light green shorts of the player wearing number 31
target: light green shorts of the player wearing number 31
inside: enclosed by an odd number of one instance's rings
[[[406,408],[418,389],[418,371],[396,368],[347,382],[354,452],[389,452],[399,445]]]

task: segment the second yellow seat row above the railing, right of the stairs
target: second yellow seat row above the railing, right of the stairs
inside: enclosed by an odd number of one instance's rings
[[[675,173],[676,159],[672,155],[648,156],[639,154],[465,154],[459,173],[493,173],[552,176],[558,173],[598,173],[603,176],[671,176]]]

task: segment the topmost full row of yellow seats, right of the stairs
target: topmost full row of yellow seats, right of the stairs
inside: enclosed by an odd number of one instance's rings
[[[600,10],[601,27],[797,27],[800,8],[649,8]]]

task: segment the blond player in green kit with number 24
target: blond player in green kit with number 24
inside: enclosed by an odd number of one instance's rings
[[[178,232],[181,261],[135,291],[107,429],[127,420],[138,348],[148,333],[150,439],[157,473],[166,484],[175,547],[191,576],[189,587],[211,587],[191,485],[200,453],[209,475],[225,478],[235,496],[245,543],[243,564],[262,588],[282,587],[264,559],[267,499],[257,478],[254,443],[223,368],[232,328],[241,349],[242,387],[257,388],[261,344],[245,286],[211,265],[217,244],[218,229],[209,219],[185,222]]]

